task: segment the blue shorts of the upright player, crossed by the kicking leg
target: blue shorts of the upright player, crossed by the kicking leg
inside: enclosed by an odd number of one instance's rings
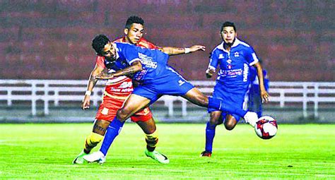
[[[213,91],[213,97],[220,98],[223,102],[230,102],[231,104],[236,104],[237,107],[243,108],[245,103],[246,92],[228,92],[225,88],[221,87],[220,83],[216,83]],[[219,109],[208,108],[208,112],[220,111]],[[222,112],[221,116],[225,119],[225,116],[230,114],[228,112]],[[240,116],[237,114],[231,114],[235,117],[236,121],[240,121]]]

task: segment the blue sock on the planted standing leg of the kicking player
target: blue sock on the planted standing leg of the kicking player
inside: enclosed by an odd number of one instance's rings
[[[102,141],[100,148],[102,154],[107,155],[107,151],[110,148],[110,145],[112,145],[113,140],[117,137],[117,135],[119,135],[123,125],[124,122],[119,121],[119,119],[117,119],[115,116],[113,121],[110,123],[110,126],[108,126],[105,133],[105,138]]]

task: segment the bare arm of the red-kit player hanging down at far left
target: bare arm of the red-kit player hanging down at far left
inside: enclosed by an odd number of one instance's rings
[[[95,64],[95,68],[90,73],[90,78],[88,79],[87,89],[85,92],[85,96],[83,98],[83,102],[81,103],[81,109],[85,110],[90,108],[90,94],[95,86],[95,84],[98,82],[97,79],[94,78],[94,76],[97,76],[103,71],[104,68],[101,66],[98,66]]]

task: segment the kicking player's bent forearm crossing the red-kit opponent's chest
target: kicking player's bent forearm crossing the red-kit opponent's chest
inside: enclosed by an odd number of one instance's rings
[[[141,61],[134,61],[129,67],[116,71],[115,73],[99,73],[95,79],[110,79],[117,76],[129,76],[142,71]]]

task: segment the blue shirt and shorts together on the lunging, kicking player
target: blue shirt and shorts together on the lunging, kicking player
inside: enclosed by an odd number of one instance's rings
[[[132,79],[141,82],[132,92],[151,100],[150,104],[162,95],[185,95],[194,86],[185,80],[173,68],[168,66],[169,55],[156,49],[136,47],[127,43],[115,43],[117,59],[108,61],[105,66],[114,71],[131,66],[134,61],[141,61],[142,71],[134,74]]]

